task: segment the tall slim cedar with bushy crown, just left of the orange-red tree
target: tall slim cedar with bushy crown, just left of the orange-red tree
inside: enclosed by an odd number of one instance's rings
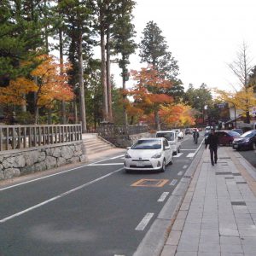
[[[133,18],[132,10],[134,9],[135,2],[131,0],[121,1],[117,18],[113,25],[113,48],[114,54],[119,54],[119,67],[122,70],[122,85],[123,90],[126,89],[126,81],[129,79],[127,66],[130,64],[129,57],[135,52],[137,44],[134,42],[136,32],[134,25],[131,23]],[[125,93],[123,93],[123,100],[126,101]],[[128,125],[127,113],[124,108],[124,124]]]

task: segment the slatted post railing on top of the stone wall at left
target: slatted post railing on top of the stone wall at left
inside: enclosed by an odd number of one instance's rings
[[[0,125],[0,151],[80,140],[81,125]]]

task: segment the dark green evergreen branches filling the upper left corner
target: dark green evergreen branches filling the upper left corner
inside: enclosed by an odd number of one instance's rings
[[[35,18],[35,9],[31,12],[28,1],[0,2],[0,86],[26,77],[34,68],[32,59],[42,53],[38,51],[44,44],[42,24]],[[27,61],[26,65],[20,65],[21,61]]]

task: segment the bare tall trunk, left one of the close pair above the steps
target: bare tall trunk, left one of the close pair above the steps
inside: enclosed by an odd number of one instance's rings
[[[101,27],[101,53],[102,53],[102,92],[103,92],[103,119],[108,120],[108,89],[106,74],[106,57],[105,57],[105,37],[104,28]]]

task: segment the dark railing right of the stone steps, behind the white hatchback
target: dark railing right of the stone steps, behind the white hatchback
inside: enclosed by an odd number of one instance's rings
[[[102,125],[97,128],[97,133],[111,143],[114,143],[118,136],[127,137],[144,132],[148,132],[148,125]]]

